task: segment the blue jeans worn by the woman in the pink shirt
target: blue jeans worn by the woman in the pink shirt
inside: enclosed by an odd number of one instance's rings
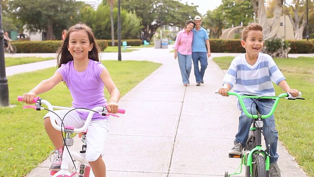
[[[178,52],[178,62],[183,84],[190,84],[189,78],[192,68],[192,55],[182,55]]]

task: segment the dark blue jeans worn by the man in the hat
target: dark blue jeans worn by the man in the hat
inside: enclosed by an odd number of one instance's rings
[[[196,83],[203,82],[205,70],[208,65],[206,52],[192,52],[192,59],[194,64],[194,75]],[[201,63],[201,70],[198,67],[198,61]]]

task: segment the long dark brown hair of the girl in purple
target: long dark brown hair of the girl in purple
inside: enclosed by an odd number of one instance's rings
[[[67,31],[66,37],[65,37],[63,43],[61,44],[61,47],[59,47],[59,49],[57,50],[57,60],[58,60],[57,61],[57,64],[58,64],[57,67],[58,68],[61,67],[61,64],[65,64],[65,63],[68,63],[69,61],[73,60],[73,56],[68,51],[69,38],[70,38],[70,34],[73,31],[77,31],[77,30],[84,30],[88,35],[89,43],[94,44],[93,49],[88,52],[88,59],[92,59],[94,61],[100,61],[99,60],[100,49],[99,49],[98,44],[96,43],[96,38],[94,36],[93,30],[83,23],[78,23],[78,24],[72,26]]]

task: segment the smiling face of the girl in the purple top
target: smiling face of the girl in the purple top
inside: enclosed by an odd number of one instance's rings
[[[75,30],[69,35],[68,51],[73,59],[88,59],[88,52],[93,49],[89,37],[83,29]]]

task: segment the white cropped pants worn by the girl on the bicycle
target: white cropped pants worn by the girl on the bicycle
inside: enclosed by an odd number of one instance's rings
[[[61,119],[64,117],[68,110],[56,110],[53,111]],[[44,118],[53,118],[58,125],[61,125],[61,119],[55,114],[49,112]],[[80,128],[84,125],[85,120],[81,119],[76,111],[70,111],[63,120],[65,126],[72,126],[74,128]],[[86,160],[93,162],[99,158],[100,155],[104,156],[105,140],[109,131],[109,120],[92,120],[87,127],[86,134]]]

